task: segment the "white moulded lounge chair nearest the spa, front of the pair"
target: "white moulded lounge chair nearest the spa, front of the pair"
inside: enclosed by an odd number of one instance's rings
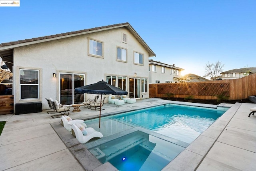
[[[82,128],[85,129],[87,132],[87,135],[83,135],[82,131],[80,128],[78,128],[75,124],[72,125],[72,135],[78,139],[80,143],[87,143],[90,139],[94,137],[103,137],[102,133],[96,131],[92,127],[88,128]]]

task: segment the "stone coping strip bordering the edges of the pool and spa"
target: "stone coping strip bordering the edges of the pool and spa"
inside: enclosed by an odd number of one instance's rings
[[[190,105],[190,106],[196,106],[196,107],[209,107],[209,108],[218,108],[218,107],[224,107],[225,104],[222,105],[208,105],[208,104],[202,104],[202,103],[180,103],[176,101],[169,101],[166,103],[158,104],[158,105],[152,105],[150,107],[157,107],[161,105],[166,104],[180,104],[180,105]],[[241,105],[242,103],[240,103]],[[240,105],[233,105],[226,111],[220,118],[218,118],[210,127],[208,127],[201,135],[199,135],[190,145],[186,147],[178,156],[176,156],[164,169],[162,170],[180,170],[181,167],[183,168],[190,168],[189,170],[196,169],[204,157],[207,155],[207,153],[210,151],[220,134],[224,131],[225,127],[228,125],[229,121],[234,116],[235,112]],[[118,112],[111,112],[111,113],[104,113],[102,114],[102,117],[109,116],[109,115],[115,115],[119,113],[124,113],[128,111],[135,111],[140,109],[146,109],[147,107],[138,107],[134,109],[126,109]],[[95,119],[98,117],[90,117],[90,118],[84,118],[85,120],[88,119]],[[77,159],[77,161],[80,163],[82,167],[84,167],[85,170],[101,170],[102,168],[107,168],[108,171],[116,171],[117,169],[111,165],[111,163],[106,162],[104,164],[100,163],[88,149],[86,149],[85,145],[80,143],[73,135],[66,131],[66,129],[60,124],[60,122],[50,123],[54,131],[57,133],[57,135],[60,137],[60,139],[63,141],[63,143],[66,145],[68,150],[74,155],[74,157]],[[211,131],[214,131],[214,135],[212,135]],[[144,132],[144,131],[143,131]],[[150,135],[152,135],[150,133]],[[198,151],[198,144],[200,145],[200,151]],[[201,150],[203,148],[203,150]],[[186,161],[186,162],[184,162]],[[188,162],[189,161],[189,162]],[[194,169],[192,169],[194,168]]]

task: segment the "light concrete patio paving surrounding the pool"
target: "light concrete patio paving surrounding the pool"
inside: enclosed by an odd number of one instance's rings
[[[161,105],[165,103],[182,103],[163,99],[139,99],[136,103],[125,105],[104,104],[102,115],[118,113]],[[182,103],[192,105],[191,103]],[[198,106],[206,104],[193,103]],[[243,170],[251,171],[256,168],[253,162],[256,158],[256,116],[251,115],[250,108],[254,103],[220,104],[231,107],[222,117],[214,122],[180,155],[170,162],[163,170]],[[210,105],[216,107],[216,105]],[[99,111],[80,107],[81,111],[73,113],[70,108],[69,116],[72,119],[88,119],[97,117]],[[59,126],[60,118],[53,119],[46,111],[23,115],[0,115],[0,121],[6,121],[0,136],[0,170],[116,170],[110,163],[101,165],[89,162],[84,155],[72,151],[72,145],[64,143],[62,137],[56,133],[52,125]],[[51,124],[50,124],[51,123]],[[64,127],[59,130],[66,131]],[[66,131],[68,133],[68,131]],[[72,136],[70,134],[70,136]],[[77,145],[75,138],[69,140]],[[76,148],[77,150],[77,148]],[[77,155],[84,157],[84,164],[77,159]],[[93,159],[92,159],[93,160]]]

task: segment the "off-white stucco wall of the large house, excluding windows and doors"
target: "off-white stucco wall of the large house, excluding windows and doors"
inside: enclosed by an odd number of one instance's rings
[[[122,32],[127,35],[127,44],[122,42]],[[104,58],[88,56],[88,38],[104,42]],[[127,63],[116,61],[116,46],[127,49]],[[143,66],[134,64],[134,51],[144,55]],[[40,70],[39,100],[19,99],[20,68]],[[106,75],[148,78],[148,52],[128,30],[117,28],[14,48],[13,72],[17,85],[14,86],[14,103],[42,101],[43,109],[48,109],[45,98],[58,99],[59,72],[84,73],[86,85],[106,81]],[[148,98],[148,93],[144,98]]]

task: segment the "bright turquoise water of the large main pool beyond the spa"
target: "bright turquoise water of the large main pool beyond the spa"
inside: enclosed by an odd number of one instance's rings
[[[116,116],[113,119],[192,143],[224,112],[211,108],[167,105]]]

